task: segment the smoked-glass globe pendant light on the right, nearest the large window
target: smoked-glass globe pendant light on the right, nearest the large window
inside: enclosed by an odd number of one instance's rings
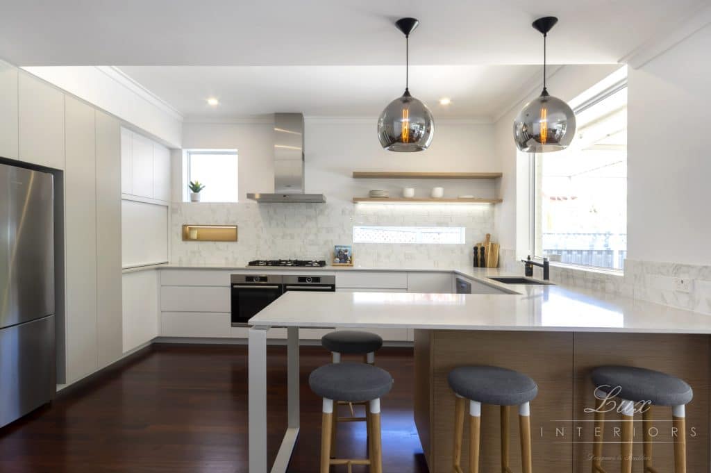
[[[520,151],[547,153],[566,149],[575,136],[575,114],[570,106],[545,88],[545,38],[558,18],[545,16],[533,22],[543,34],[543,91],[523,107],[513,122],[513,139]]]

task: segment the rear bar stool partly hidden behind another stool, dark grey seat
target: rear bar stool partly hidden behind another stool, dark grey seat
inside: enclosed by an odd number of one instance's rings
[[[368,331],[337,330],[322,336],[321,345],[328,351],[331,351],[333,363],[341,363],[341,355],[363,355],[363,361],[369,365],[373,365],[375,364],[375,351],[380,350],[383,346],[383,339],[380,335],[372,334]],[[366,413],[368,412],[368,403],[355,404],[363,405]],[[339,418],[338,405],[348,405],[351,409],[351,416]],[[336,452],[336,427],[338,426],[338,422],[365,421],[366,431],[370,432],[370,425],[368,425],[370,420],[368,419],[368,415],[365,415],[365,417],[355,416],[353,403],[336,403],[336,410],[333,415],[333,427],[331,427],[331,457],[333,457]]]

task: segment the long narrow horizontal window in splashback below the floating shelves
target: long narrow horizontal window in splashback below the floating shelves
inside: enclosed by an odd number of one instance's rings
[[[466,243],[464,232],[464,227],[354,226],[353,243],[461,245]]]

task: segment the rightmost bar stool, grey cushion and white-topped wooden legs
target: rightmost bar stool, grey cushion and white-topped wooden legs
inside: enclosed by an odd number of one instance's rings
[[[672,432],[674,442],[674,472],[686,473],[686,405],[691,402],[694,392],[685,381],[660,371],[634,366],[599,366],[592,371],[592,382],[597,390],[606,395],[615,395],[621,400],[621,472],[632,472],[632,446],[634,442],[634,414],[642,411],[646,424],[651,422],[651,405],[662,405],[672,409]],[[596,396],[597,397],[597,396]],[[593,438],[592,472],[605,473],[602,468],[602,446],[604,432],[604,412],[602,400],[595,410],[595,432],[601,435]],[[655,473],[652,466],[652,436],[649,429],[643,429],[644,472]]]

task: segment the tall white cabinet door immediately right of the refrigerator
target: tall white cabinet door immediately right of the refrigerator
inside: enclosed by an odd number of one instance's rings
[[[98,368],[95,133],[94,108],[67,97],[65,284],[67,379],[70,382]]]

